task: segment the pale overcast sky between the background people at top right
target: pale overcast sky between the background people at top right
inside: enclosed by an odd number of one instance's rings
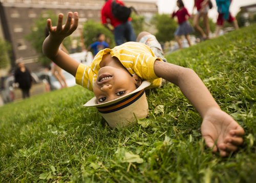
[[[158,0],[159,13],[172,13],[176,7],[176,2],[177,0]],[[218,15],[216,3],[215,0],[211,0],[211,2],[214,4],[214,8],[209,11],[209,17],[216,20]],[[188,12],[192,13],[194,0],[183,0],[183,3]],[[256,0],[233,0],[230,6],[230,12],[232,15],[236,15],[239,12],[241,6],[255,3]]]

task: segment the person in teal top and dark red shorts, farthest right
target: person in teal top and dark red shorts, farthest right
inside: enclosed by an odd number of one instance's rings
[[[220,1],[220,0],[216,0],[216,4],[218,7],[218,19],[217,19],[217,28],[216,28],[216,32],[215,32],[215,36],[219,36],[220,34],[220,30],[223,28],[223,24],[224,21],[228,21],[229,23],[231,23],[234,27],[234,29],[239,29],[238,27],[238,22],[236,20],[235,17],[233,17],[231,15],[231,13],[229,12],[229,7],[231,4],[232,0],[226,0],[226,1]]]

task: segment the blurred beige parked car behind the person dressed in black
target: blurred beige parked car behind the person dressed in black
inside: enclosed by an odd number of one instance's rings
[[[39,80],[35,73],[32,75],[32,87],[30,89],[30,96],[46,93],[50,91],[50,86],[47,80]],[[4,103],[22,99],[22,91],[14,84],[14,76],[2,77],[0,93]]]

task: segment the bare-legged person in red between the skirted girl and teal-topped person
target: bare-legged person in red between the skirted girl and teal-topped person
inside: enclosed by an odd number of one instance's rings
[[[197,8],[197,14],[194,16],[193,26],[197,31],[199,31],[203,40],[208,39],[210,33],[210,25],[208,19],[209,0],[195,0],[194,8]],[[205,32],[199,26],[199,20],[201,17],[203,17]]]

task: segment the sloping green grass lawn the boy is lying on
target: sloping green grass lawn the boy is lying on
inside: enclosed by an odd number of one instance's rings
[[[245,129],[228,158],[211,153],[201,117],[173,84],[147,91],[150,115],[111,129],[79,86],[0,108],[0,182],[253,182],[256,25],[167,56],[193,68]],[[130,159],[129,159],[130,158]]]

